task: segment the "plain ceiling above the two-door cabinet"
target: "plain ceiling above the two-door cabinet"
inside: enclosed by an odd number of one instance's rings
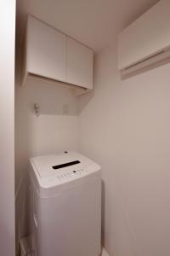
[[[98,51],[118,32],[158,0],[17,0],[17,27],[22,32],[26,15],[46,21],[61,32]]]

